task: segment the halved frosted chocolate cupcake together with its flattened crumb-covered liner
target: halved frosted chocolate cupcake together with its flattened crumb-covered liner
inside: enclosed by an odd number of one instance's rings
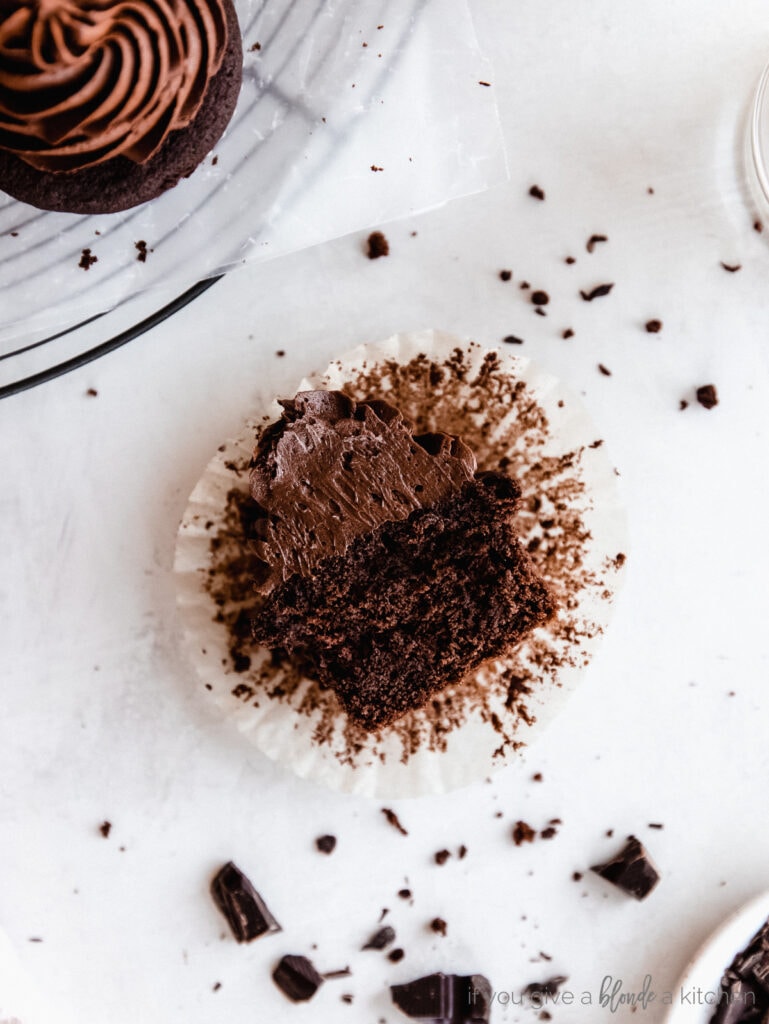
[[[555,716],[608,622],[627,547],[595,428],[526,359],[437,332],[297,391],[221,446],[179,530],[204,691],[337,788],[484,777]]]

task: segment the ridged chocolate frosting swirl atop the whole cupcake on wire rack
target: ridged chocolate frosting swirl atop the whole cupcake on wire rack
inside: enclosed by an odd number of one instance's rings
[[[0,147],[40,171],[149,160],[195,118],[225,0],[0,0]]]

